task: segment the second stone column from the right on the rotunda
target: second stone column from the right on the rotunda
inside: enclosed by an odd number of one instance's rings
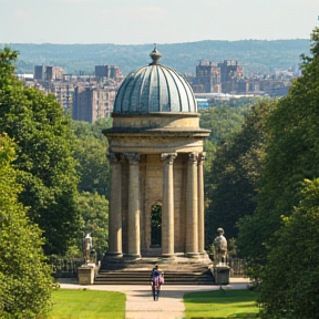
[[[198,256],[197,153],[189,154],[186,194],[186,255]]]

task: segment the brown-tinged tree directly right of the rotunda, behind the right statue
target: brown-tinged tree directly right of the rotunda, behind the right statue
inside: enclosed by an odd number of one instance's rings
[[[228,238],[237,237],[237,220],[253,215],[261,172],[265,122],[276,102],[259,101],[246,116],[241,130],[217,145],[207,177],[207,244],[223,227]]]

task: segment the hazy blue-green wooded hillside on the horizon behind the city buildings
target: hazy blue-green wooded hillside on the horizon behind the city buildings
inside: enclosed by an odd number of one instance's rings
[[[199,60],[220,62],[237,60],[244,66],[245,74],[268,73],[274,70],[287,70],[297,65],[301,53],[309,52],[309,40],[241,40],[158,44],[163,54],[161,62],[177,72],[195,74]],[[4,43],[0,44],[1,47]],[[150,52],[154,44],[10,44],[20,52],[18,73],[33,73],[35,64],[62,66],[66,73],[94,73],[94,65],[119,65],[127,75],[150,62]]]

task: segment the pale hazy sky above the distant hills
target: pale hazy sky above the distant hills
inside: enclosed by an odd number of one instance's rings
[[[0,43],[309,39],[319,0],[0,0]]]

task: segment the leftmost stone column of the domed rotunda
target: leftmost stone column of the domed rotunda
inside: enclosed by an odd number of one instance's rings
[[[109,250],[107,255],[122,257],[122,169],[121,154],[109,153],[111,164],[111,194],[109,209]]]

